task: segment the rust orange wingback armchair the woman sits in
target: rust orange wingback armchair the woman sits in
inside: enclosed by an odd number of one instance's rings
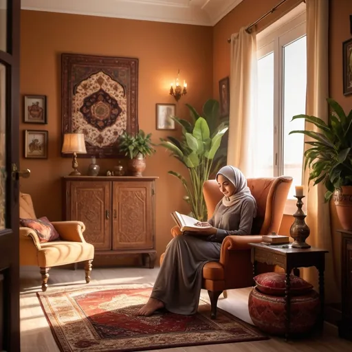
[[[278,233],[292,177],[253,178],[247,181],[258,207],[252,225],[252,235],[225,237],[221,245],[219,262],[209,262],[203,267],[202,287],[208,290],[213,319],[217,315],[217,300],[225,289],[252,286],[253,267],[250,259],[251,248],[248,243],[261,242],[262,234]],[[223,197],[216,180],[204,183],[203,195],[210,219],[215,206]],[[178,226],[171,230],[171,234],[174,237],[181,234]],[[163,259],[164,254],[160,257],[160,264]],[[269,272],[274,270],[274,267],[258,265],[257,270]]]

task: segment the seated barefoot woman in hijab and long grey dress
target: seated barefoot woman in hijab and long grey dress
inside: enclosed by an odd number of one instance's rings
[[[204,230],[208,236],[180,234],[168,243],[153,292],[138,312],[151,316],[166,308],[175,314],[197,313],[202,270],[208,261],[219,261],[221,243],[228,235],[250,234],[256,217],[256,201],[238,168],[224,166],[216,177],[223,198]]]

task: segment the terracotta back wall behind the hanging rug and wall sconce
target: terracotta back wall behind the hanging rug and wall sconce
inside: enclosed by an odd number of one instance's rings
[[[21,12],[21,94],[47,96],[47,125],[20,125],[21,168],[30,168],[30,179],[21,180],[21,190],[32,195],[37,217],[61,219],[61,177],[71,171],[71,159],[61,157],[61,53],[131,56],[139,58],[140,129],[159,137],[177,135],[155,130],[155,103],[173,103],[168,96],[177,69],[188,83],[188,94],[177,104],[177,115],[188,117],[186,102],[201,108],[212,96],[212,28],[151,21],[133,21],[51,12]],[[22,116],[22,115],[21,115]],[[21,117],[22,119],[22,117]],[[23,130],[49,131],[49,158],[23,158]],[[78,159],[85,172],[89,159]],[[117,164],[115,159],[98,159],[102,170]],[[157,252],[170,240],[170,212],[187,211],[183,189],[167,174],[185,170],[164,148],[147,159],[145,175],[158,176]]]

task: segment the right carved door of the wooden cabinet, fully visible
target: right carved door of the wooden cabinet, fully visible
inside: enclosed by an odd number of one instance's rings
[[[153,182],[113,182],[113,250],[153,248]]]

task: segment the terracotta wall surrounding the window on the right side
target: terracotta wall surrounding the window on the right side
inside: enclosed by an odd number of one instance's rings
[[[258,25],[258,31],[263,30],[283,14],[294,8],[300,0],[288,0],[276,12],[270,14]],[[265,12],[271,10],[278,0],[244,0],[230,14],[224,17],[214,27],[213,32],[213,61],[214,80],[213,95],[219,97],[219,80],[230,74],[230,48],[227,39],[232,33],[238,32],[242,26],[259,19]],[[345,111],[352,109],[352,95],[344,96],[342,93],[342,41],[351,39],[349,28],[349,14],[352,14],[351,0],[330,0],[329,18],[329,91],[331,98],[337,100]],[[331,233],[333,236],[333,252],[336,258],[337,276],[340,281],[340,235],[336,229],[341,228],[333,202],[331,209]],[[289,233],[293,217],[286,215],[281,224],[280,233]]]

